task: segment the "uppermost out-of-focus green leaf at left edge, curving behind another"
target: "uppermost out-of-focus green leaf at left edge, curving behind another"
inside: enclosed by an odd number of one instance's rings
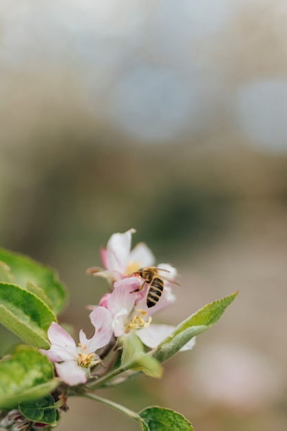
[[[63,284],[59,282],[58,276],[52,269],[39,264],[19,253],[0,249],[0,261],[10,266],[11,273],[15,277],[14,284],[27,288],[28,282],[39,286],[50,298],[53,304],[52,310],[58,314],[63,310],[66,302],[67,291]],[[3,280],[8,281],[8,280]],[[10,280],[11,282],[11,280]],[[49,304],[47,304],[49,306]]]

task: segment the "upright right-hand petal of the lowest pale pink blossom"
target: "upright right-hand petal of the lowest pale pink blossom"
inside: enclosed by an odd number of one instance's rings
[[[87,343],[89,353],[95,352],[109,343],[113,333],[111,313],[105,307],[95,308],[89,315],[92,325],[95,327],[95,333]]]

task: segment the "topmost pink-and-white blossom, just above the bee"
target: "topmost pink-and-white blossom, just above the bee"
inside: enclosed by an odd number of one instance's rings
[[[111,235],[107,248],[100,249],[100,258],[105,270],[94,267],[87,269],[87,273],[105,277],[112,283],[128,277],[144,266],[151,266],[154,262],[153,253],[143,242],[131,250],[131,234],[135,232],[135,229],[129,229],[125,233]]]

